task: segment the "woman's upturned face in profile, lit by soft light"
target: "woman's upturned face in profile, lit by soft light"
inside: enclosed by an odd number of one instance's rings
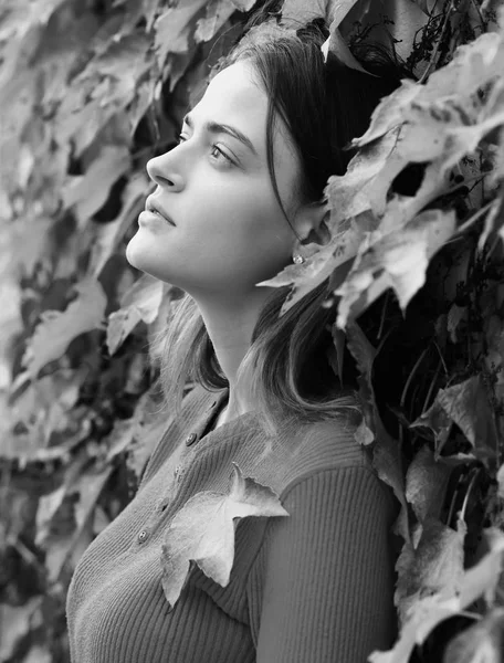
[[[175,225],[143,212],[126,257],[192,295],[244,293],[292,261],[295,235],[267,169],[267,96],[256,81],[246,61],[217,74],[183,123],[180,145],[147,164],[157,189],[146,207],[151,201]],[[288,213],[300,162],[280,122],[275,173]]]

